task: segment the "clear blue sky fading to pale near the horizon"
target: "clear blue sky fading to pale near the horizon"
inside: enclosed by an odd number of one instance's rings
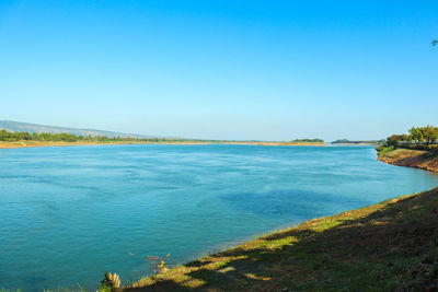
[[[438,1],[0,1],[0,119],[374,139],[438,125]]]

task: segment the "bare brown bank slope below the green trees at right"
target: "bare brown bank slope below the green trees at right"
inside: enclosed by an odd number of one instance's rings
[[[378,160],[393,165],[415,167],[438,174],[438,150],[424,151],[394,147],[377,147]]]

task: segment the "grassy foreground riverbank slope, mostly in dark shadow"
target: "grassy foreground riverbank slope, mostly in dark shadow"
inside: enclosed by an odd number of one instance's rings
[[[438,188],[311,220],[126,291],[437,291]]]

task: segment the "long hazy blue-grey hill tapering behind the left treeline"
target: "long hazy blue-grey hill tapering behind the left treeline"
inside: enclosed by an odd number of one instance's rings
[[[126,133],[126,132],[113,132],[113,131],[102,131],[95,129],[77,129],[77,128],[66,128],[66,127],[55,127],[55,126],[45,126],[30,122],[19,122],[13,120],[0,120],[0,129],[5,129],[8,131],[26,131],[28,133],[34,132],[69,132],[77,136],[106,136],[106,137],[132,137],[132,138],[151,138],[151,136],[145,135],[135,135],[135,133]]]

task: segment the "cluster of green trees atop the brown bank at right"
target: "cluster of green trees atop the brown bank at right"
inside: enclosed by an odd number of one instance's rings
[[[422,150],[438,148],[438,127],[413,127],[408,132],[388,137],[385,144]]]

